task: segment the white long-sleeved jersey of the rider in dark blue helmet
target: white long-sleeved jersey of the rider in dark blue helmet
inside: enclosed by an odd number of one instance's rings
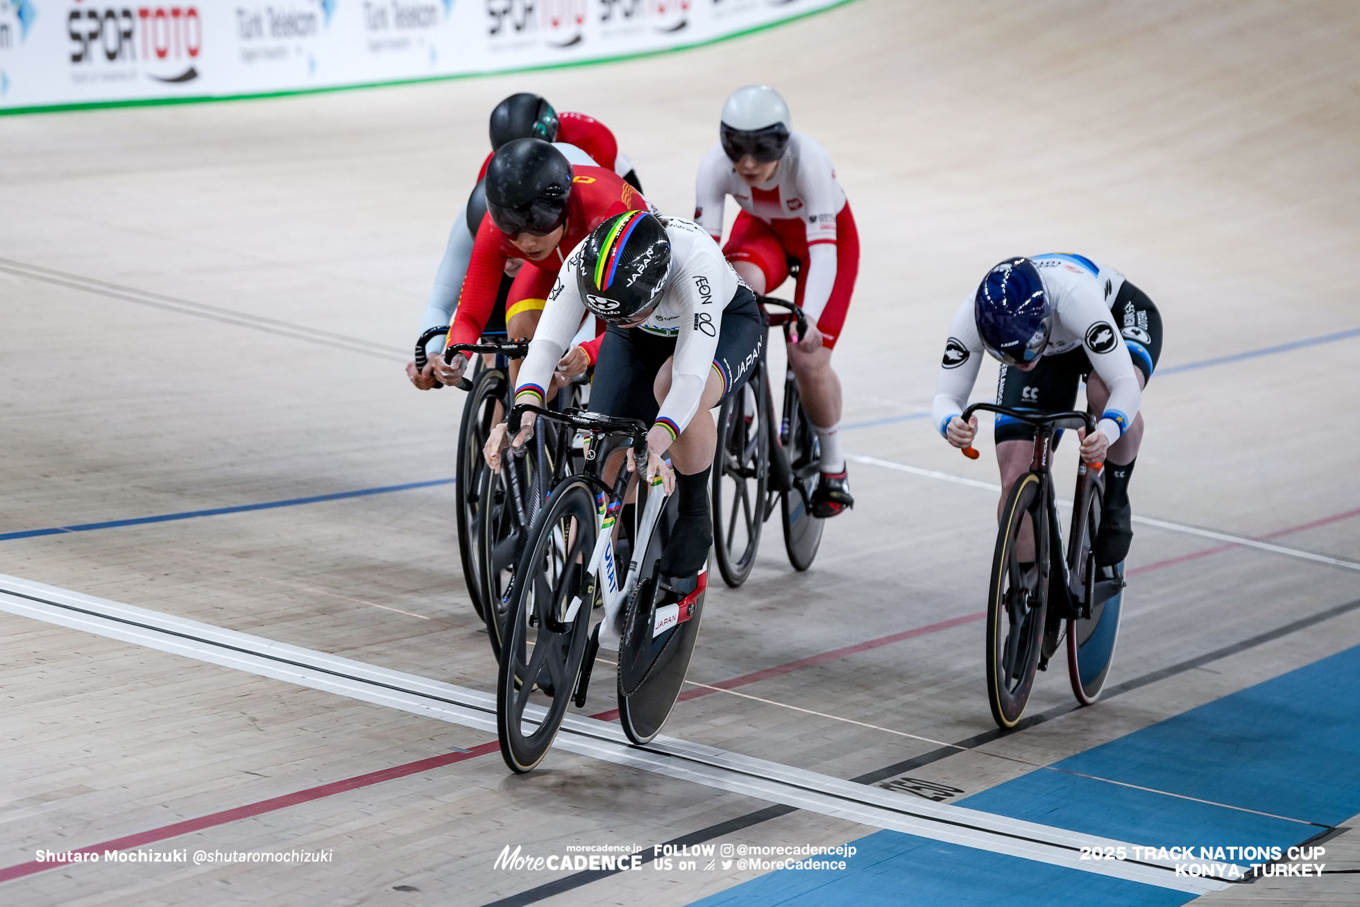
[[[1110,389],[1110,401],[1102,413],[1099,428],[1114,443],[1133,424],[1142,405],[1142,390],[1138,388],[1133,359],[1110,313],[1110,306],[1123,286],[1123,275],[1112,268],[1102,268],[1083,256],[1066,253],[1034,256],[1030,261],[1039,271],[1044,295],[1053,306],[1053,332],[1043,356],[1057,356],[1085,347],[1091,367]],[[964,299],[949,325],[949,340],[945,343],[932,408],[940,434],[967,407],[982,366],[983,347],[974,318],[974,296]]]

